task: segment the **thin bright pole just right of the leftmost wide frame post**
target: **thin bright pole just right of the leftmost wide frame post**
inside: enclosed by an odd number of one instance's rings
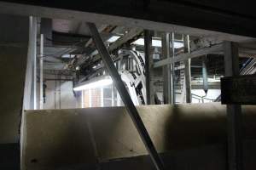
[[[44,81],[44,35],[40,36],[40,109],[43,109],[43,81]]]

